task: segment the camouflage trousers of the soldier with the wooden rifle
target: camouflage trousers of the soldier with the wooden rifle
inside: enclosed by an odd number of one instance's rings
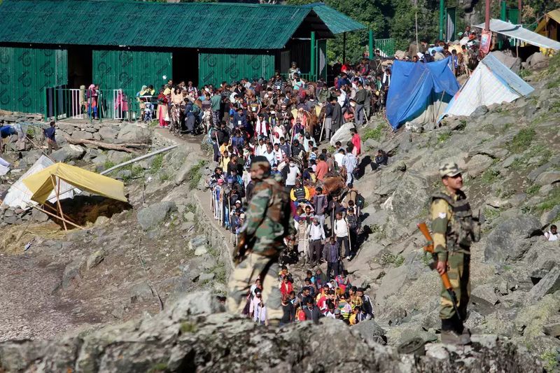
[[[467,305],[470,298],[470,254],[449,253],[447,258],[447,274],[449,282],[457,297],[457,309],[461,320],[467,317]],[[455,316],[453,301],[442,286],[440,318],[447,319]]]

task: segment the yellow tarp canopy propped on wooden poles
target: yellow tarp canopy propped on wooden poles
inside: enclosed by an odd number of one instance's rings
[[[65,163],[56,163],[27,178],[23,183],[29,188],[31,199],[39,204],[44,204],[54,191],[53,179],[65,181],[81,190],[87,190],[94,195],[102,195],[118,201],[128,202],[125,197],[125,185],[122,181],[96,174],[92,171],[80,169]],[[61,188],[62,190],[62,188]]]

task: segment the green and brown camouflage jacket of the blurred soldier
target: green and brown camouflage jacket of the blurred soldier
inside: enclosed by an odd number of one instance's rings
[[[274,255],[283,248],[284,237],[295,234],[290,197],[275,178],[258,181],[246,211],[244,230],[255,239],[253,251]]]

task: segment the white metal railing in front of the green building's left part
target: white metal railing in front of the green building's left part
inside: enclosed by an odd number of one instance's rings
[[[66,85],[45,88],[45,121],[55,119],[94,119],[136,121],[141,118],[141,101],[133,90],[86,90]],[[152,101],[154,97],[143,97]]]

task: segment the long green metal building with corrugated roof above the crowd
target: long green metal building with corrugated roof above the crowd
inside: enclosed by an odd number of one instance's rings
[[[326,76],[326,40],[365,28],[323,3],[3,0],[0,19],[0,109],[27,113],[45,113],[50,87],[219,85],[292,61]]]

